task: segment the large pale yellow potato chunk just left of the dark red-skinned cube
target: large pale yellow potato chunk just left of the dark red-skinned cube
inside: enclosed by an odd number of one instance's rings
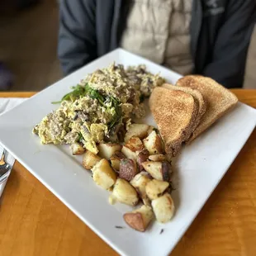
[[[109,189],[116,183],[116,173],[111,168],[107,159],[101,159],[92,168],[92,178],[94,182],[104,188]]]

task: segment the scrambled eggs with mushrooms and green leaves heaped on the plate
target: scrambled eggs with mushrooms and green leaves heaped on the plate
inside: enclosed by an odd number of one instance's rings
[[[97,154],[97,143],[123,140],[132,118],[145,116],[144,98],[163,83],[164,78],[147,72],[145,65],[124,69],[111,64],[81,80],[33,132],[42,144],[79,142]]]

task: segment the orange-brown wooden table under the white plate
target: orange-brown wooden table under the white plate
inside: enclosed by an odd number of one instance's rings
[[[256,107],[256,90],[233,92]],[[32,94],[3,92],[0,97]],[[16,163],[1,198],[0,255],[117,254]],[[171,255],[256,255],[256,130]]]

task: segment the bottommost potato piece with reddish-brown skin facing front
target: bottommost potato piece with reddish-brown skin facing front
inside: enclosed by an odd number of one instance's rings
[[[127,212],[123,217],[132,229],[144,232],[154,219],[154,213],[150,206],[141,206],[135,211]]]

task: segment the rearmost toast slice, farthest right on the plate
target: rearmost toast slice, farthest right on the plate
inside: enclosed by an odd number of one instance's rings
[[[231,108],[235,107],[238,102],[235,94],[211,78],[189,75],[180,78],[176,85],[178,87],[198,90],[206,101],[206,113],[202,116],[200,124],[192,133],[189,142],[196,139],[198,135],[201,135],[204,130],[209,128],[221,116],[224,116]]]

